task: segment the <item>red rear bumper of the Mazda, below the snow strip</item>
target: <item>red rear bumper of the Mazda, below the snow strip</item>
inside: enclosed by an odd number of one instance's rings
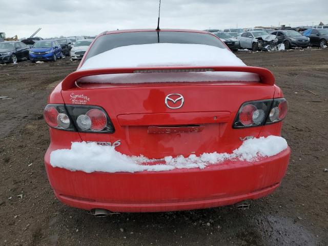
[[[290,149],[255,162],[224,161],[204,169],[85,173],[45,165],[56,197],[71,207],[113,212],[159,212],[226,206],[272,193],[289,163]]]

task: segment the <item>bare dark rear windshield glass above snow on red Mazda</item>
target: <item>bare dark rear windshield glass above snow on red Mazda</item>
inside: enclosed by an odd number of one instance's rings
[[[172,31],[124,32],[98,37],[89,50],[86,59],[121,46],[156,43],[210,45],[227,49],[218,38],[207,33]]]

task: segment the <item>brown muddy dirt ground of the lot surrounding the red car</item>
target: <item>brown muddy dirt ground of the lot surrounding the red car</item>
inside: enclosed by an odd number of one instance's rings
[[[61,204],[43,157],[47,97],[78,65],[0,65],[0,245],[328,245],[328,49],[239,52],[270,69],[289,101],[282,136],[292,156],[282,185],[235,206],[95,218]]]

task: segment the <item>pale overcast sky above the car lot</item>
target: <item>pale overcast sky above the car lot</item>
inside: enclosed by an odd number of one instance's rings
[[[328,0],[161,0],[160,28],[235,28],[328,24]],[[156,0],[0,0],[7,37],[97,35],[106,30],[156,28]]]

